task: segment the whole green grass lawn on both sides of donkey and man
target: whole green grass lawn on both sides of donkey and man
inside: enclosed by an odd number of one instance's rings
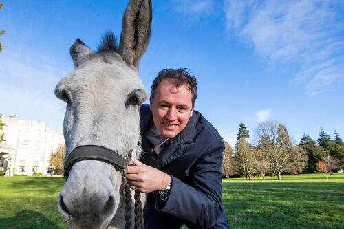
[[[0,228],[67,228],[56,205],[64,182],[0,177]],[[231,228],[344,228],[344,175],[224,179],[222,198]]]

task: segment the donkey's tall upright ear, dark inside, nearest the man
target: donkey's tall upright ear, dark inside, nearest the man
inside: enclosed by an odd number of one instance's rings
[[[137,69],[151,36],[151,15],[151,0],[131,0],[123,16],[118,52]]]

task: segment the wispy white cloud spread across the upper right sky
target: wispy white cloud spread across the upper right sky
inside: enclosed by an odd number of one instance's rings
[[[293,83],[310,94],[344,78],[343,1],[226,0],[228,30],[237,32],[270,63],[297,63]],[[341,7],[340,7],[341,6]]]

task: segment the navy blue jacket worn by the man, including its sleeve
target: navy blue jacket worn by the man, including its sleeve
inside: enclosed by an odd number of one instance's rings
[[[185,129],[166,142],[157,156],[144,137],[153,125],[149,105],[140,110],[144,164],[172,177],[169,199],[149,193],[144,208],[146,228],[229,228],[222,204],[222,152],[224,142],[216,129],[197,111]]]

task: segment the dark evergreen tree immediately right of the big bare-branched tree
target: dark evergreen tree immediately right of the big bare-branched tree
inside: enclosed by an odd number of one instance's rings
[[[316,142],[312,140],[312,138],[310,138],[310,136],[306,133],[303,133],[303,137],[299,142],[299,146],[305,149],[308,155],[308,164],[306,167],[306,171],[308,171],[308,173],[315,173],[317,170],[316,163],[321,160],[323,155],[325,155],[325,152],[323,151],[323,149],[319,148],[316,145]]]

